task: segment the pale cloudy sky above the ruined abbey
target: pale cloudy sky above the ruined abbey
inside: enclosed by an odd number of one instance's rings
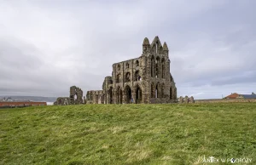
[[[256,92],[254,0],[0,0],[0,95],[102,89],[143,39],[169,48],[177,97]]]

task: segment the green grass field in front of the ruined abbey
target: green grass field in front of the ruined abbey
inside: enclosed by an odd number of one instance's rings
[[[0,164],[179,165],[204,156],[256,164],[255,103],[0,110]]]

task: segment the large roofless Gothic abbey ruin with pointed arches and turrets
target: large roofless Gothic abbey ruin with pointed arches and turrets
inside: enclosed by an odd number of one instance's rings
[[[159,37],[143,41],[143,54],[113,64],[112,77],[105,77],[102,90],[86,94],[87,104],[172,103],[177,88],[170,73],[169,50]],[[132,100],[131,100],[132,98]]]

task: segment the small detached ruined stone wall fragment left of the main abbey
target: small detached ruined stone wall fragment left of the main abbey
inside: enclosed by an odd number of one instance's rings
[[[79,105],[84,104],[83,90],[76,86],[70,87],[69,97],[59,97],[54,102],[54,105]]]

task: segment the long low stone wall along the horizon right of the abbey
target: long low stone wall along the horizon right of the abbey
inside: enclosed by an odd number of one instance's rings
[[[256,99],[217,99],[217,100],[195,100],[195,103],[230,103],[230,102],[255,102]]]

